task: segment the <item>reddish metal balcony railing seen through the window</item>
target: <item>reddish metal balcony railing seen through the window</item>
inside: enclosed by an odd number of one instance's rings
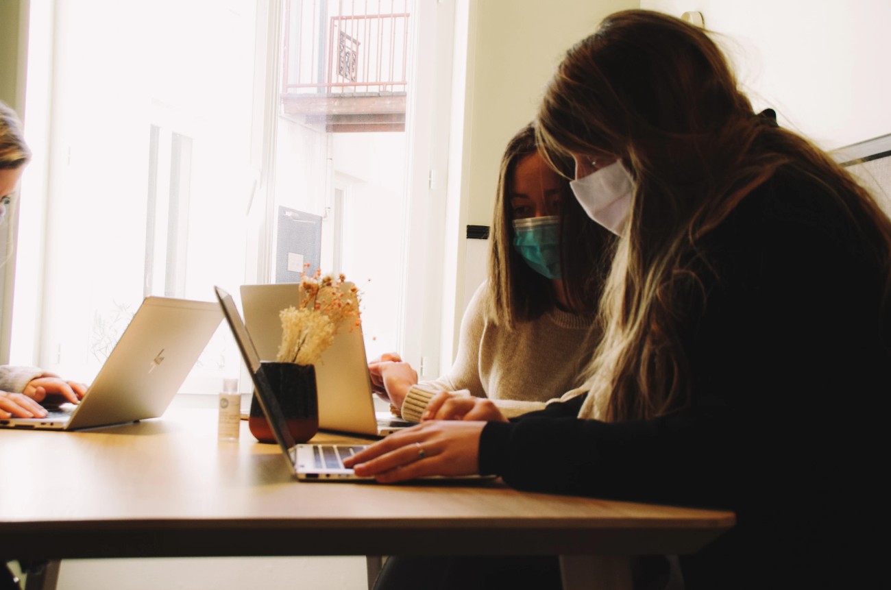
[[[399,94],[409,0],[286,0],[284,94]]]

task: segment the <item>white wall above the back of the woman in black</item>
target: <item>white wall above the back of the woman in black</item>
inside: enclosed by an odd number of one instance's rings
[[[756,109],[831,150],[891,133],[888,0],[642,0],[702,12]]]

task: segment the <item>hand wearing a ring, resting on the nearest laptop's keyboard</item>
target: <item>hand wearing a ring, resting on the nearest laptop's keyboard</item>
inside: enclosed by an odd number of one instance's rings
[[[344,460],[356,475],[394,483],[428,475],[479,472],[479,436],[486,422],[423,422],[399,430]]]

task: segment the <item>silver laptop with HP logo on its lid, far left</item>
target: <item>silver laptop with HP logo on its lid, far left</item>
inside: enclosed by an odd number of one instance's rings
[[[77,406],[0,428],[78,430],[156,418],[170,405],[222,320],[212,301],[149,297]]]

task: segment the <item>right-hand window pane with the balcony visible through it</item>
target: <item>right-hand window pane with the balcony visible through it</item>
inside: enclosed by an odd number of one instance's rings
[[[284,4],[275,201],[322,217],[322,270],[362,291],[369,356],[400,346],[412,10],[406,0]],[[293,243],[278,234],[277,266],[302,254]]]

